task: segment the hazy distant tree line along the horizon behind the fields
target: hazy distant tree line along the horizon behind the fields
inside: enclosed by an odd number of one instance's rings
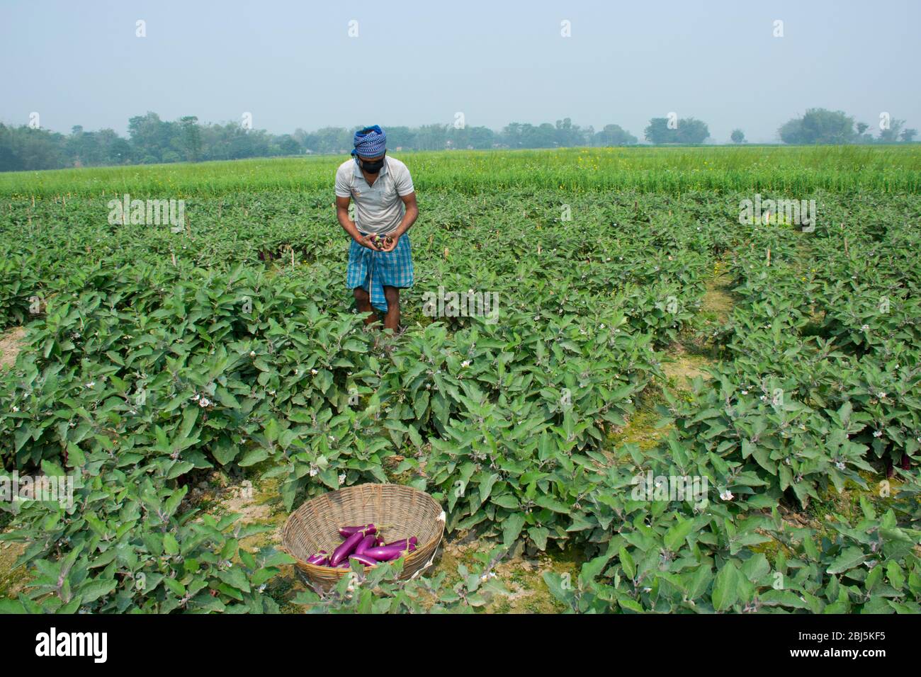
[[[867,123],[855,123],[841,111],[810,109],[779,130],[787,144],[845,144],[911,142],[917,132],[904,120],[880,118],[880,134],[868,134]],[[419,127],[383,125],[393,150],[483,148],[554,148],[571,146],[632,146],[638,139],[618,124],[596,131],[569,118],[556,123],[509,123],[501,131],[455,124]],[[884,127],[884,128],[883,128]],[[199,162],[239,158],[272,158],[309,153],[347,153],[357,127],[324,127],[315,132],[269,134],[240,123],[200,123],[195,116],[169,122],[155,112],[128,121],[128,137],[111,129],[87,132],[77,125],[60,134],[29,125],[0,123],[0,171],[60,169],[103,165]],[[710,137],[706,123],[694,118],[653,118],[644,130],[652,144],[701,144]],[[733,130],[733,143],[744,134]]]

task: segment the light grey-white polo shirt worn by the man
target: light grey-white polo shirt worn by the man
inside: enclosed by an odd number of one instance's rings
[[[336,197],[355,201],[355,222],[363,233],[387,235],[395,230],[406,213],[400,198],[414,190],[409,169],[390,156],[384,157],[384,166],[373,186],[367,185],[355,158],[345,160],[336,169]]]

